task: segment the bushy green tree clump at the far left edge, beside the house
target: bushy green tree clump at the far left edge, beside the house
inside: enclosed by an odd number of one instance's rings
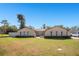
[[[15,25],[9,26],[9,23],[7,20],[2,20],[0,23],[3,24],[2,26],[0,26],[0,30],[2,31],[2,33],[7,34],[9,32],[17,31],[17,27]]]

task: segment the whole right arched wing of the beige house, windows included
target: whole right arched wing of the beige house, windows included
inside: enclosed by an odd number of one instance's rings
[[[52,27],[45,30],[45,37],[67,37],[70,36],[70,32],[65,28],[61,27]]]

